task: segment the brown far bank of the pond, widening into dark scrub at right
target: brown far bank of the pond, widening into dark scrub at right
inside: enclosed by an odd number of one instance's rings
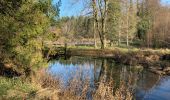
[[[113,59],[117,63],[125,65],[140,65],[159,75],[170,74],[170,50],[169,49],[88,49],[69,48],[68,56],[89,56],[96,58]]]

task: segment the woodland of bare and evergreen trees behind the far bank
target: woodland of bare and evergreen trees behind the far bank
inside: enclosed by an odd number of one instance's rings
[[[104,47],[169,47],[169,7],[159,0],[92,1],[86,2],[85,16],[58,20],[63,37],[95,40],[99,45],[104,42]]]

